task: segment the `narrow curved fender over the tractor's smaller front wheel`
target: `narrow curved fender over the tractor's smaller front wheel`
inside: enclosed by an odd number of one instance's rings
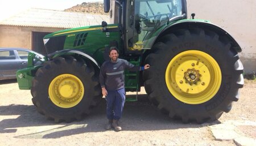
[[[52,59],[55,57],[60,57],[66,54],[79,54],[82,55],[84,58],[89,59],[89,61],[91,61],[95,66],[97,66],[100,69],[100,65],[98,64],[98,62],[92,58],[90,55],[84,53],[84,51],[78,50],[78,49],[65,49],[65,50],[60,50],[60,51],[55,51],[54,53],[48,54],[48,58]]]

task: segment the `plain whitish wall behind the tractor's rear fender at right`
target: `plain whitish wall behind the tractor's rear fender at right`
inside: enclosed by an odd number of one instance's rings
[[[240,44],[245,74],[256,72],[256,1],[187,0],[188,15],[207,19],[228,31]]]

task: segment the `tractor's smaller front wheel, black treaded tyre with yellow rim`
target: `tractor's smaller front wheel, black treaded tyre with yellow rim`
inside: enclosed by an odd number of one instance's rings
[[[44,63],[32,81],[32,102],[55,122],[71,122],[89,114],[101,98],[98,75],[89,62],[71,55]]]

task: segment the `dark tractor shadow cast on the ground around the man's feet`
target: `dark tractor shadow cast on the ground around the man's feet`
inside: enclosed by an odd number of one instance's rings
[[[181,121],[175,121],[169,118],[168,115],[160,113],[145,97],[147,95],[139,95],[137,102],[126,102],[123,117],[120,120],[123,131],[172,130],[178,128],[198,128],[214,124],[184,124]],[[34,105],[0,106],[0,117],[7,116],[7,118],[2,118],[3,120],[0,122],[0,133],[14,133],[19,128],[26,128],[32,129],[30,130],[31,132],[40,132],[16,136],[16,138],[53,139],[85,132],[104,132],[104,125],[107,122],[105,108],[105,101],[102,99],[97,108],[81,121],[54,123],[39,114]],[[8,118],[11,115],[18,115],[18,118]],[[47,126],[48,128],[52,126],[52,128],[42,131],[42,126]],[[36,128],[39,130],[35,130]]]

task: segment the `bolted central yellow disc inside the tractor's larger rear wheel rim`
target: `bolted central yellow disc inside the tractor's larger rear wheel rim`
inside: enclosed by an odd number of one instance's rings
[[[210,83],[209,69],[199,58],[183,57],[175,64],[173,85],[177,92],[196,95],[207,89]]]

